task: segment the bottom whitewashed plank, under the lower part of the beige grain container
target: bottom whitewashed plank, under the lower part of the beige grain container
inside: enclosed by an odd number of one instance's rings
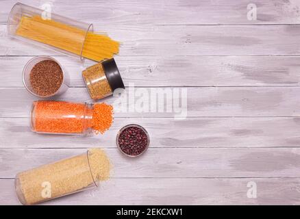
[[[258,198],[247,198],[254,181]],[[42,205],[299,205],[299,179],[111,179]],[[0,205],[20,205],[13,179],[0,179]]]

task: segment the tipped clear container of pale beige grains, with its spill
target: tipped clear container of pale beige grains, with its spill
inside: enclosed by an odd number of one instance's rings
[[[101,149],[89,149],[82,155],[62,159],[19,172],[14,181],[23,205],[33,205],[53,198],[99,186],[108,179],[110,162]]]

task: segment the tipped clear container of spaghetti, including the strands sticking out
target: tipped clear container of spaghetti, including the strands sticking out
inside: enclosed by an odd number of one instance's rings
[[[16,3],[8,17],[8,34],[66,55],[100,62],[118,53],[119,43],[95,32],[91,23]]]

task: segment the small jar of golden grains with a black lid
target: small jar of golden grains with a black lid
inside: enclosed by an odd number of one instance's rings
[[[118,88],[125,88],[114,59],[105,60],[82,72],[86,88],[92,99],[103,99]]]

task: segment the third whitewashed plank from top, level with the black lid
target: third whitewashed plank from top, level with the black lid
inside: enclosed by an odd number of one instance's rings
[[[22,71],[29,57],[0,57],[0,87],[23,87]],[[71,86],[82,87],[82,69],[71,57],[55,56],[71,77]],[[300,57],[116,56],[125,86],[299,86]]]

